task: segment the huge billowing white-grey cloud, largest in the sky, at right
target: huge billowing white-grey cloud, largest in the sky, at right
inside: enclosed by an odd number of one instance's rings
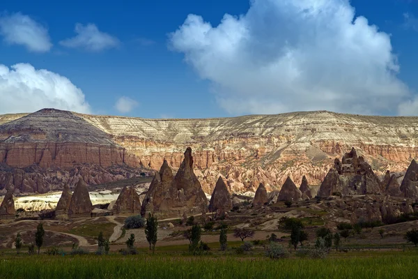
[[[169,40],[231,114],[398,114],[412,98],[390,36],[348,0],[252,0],[216,27],[188,15]]]

